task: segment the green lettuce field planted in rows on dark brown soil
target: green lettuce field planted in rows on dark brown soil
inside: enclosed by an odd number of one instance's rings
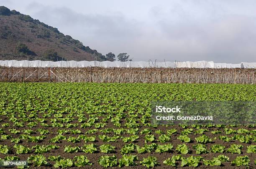
[[[155,126],[150,105],[255,96],[256,85],[0,83],[0,158],[42,169],[255,168],[255,125]]]

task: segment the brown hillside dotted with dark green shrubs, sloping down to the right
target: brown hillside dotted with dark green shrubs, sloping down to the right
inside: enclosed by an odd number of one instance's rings
[[[0,7],[0,60],[105,60],[55,27]]]

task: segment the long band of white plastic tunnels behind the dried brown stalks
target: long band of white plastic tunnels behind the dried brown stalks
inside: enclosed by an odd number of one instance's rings
[[[0,60],[0,66],[4,67],[188,67],[188,68],[256,68],[256,62],[241,62],[240,64],[231,63],[214,63],[213,61],[197,62],[152,62],[145,61],[41,61],[41,60]]]

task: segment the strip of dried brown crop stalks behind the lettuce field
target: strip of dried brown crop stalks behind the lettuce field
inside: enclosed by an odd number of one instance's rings
[[[0,81],[255,84],[256,69],[0,67]]]

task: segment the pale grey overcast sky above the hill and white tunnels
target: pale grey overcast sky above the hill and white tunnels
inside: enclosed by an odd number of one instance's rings
[[[105,55],[256,62],[255,0],[0,0]]]

